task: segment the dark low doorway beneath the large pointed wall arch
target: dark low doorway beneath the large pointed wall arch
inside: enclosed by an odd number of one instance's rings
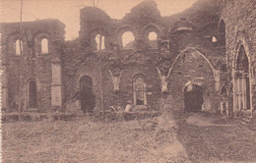
[[[198,84],[188,84],[184,88],[184,109],[188,112],[199,112],[202,110],[203,88]]]

